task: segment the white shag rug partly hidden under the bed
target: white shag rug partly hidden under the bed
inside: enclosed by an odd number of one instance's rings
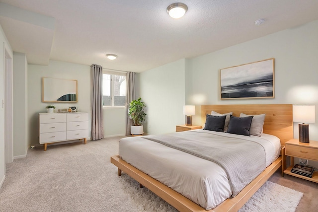
[[[122,188],[140,212],[177,212],[175,208],[123,173]],[[266,181],[239,212],[295,212],[303,193]]]

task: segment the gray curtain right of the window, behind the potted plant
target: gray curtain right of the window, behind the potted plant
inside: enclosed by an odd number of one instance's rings
[[[130,126],[132,124],[132,120],[128,117],[128,108],[129,102],[135,99],[135,72],[127,72],[126,76],[127,80],[127,111],[126,111],[126,136],[130,136]]]

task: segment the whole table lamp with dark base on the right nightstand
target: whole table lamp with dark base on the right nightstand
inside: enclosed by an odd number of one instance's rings
[[[299,122],[299,142],[309,143],[309,124],[315,123],[315,105],[293,105],[293,122]]]

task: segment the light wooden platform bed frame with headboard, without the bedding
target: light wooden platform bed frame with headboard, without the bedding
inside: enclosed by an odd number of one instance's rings
[[[263,133],[277,136],[281,140],[281,156],[269,165],[259,176],[250,182],[236,197],[225,200],[212,210],[205,210],[196,203],[163,185],[159,181],[120,159],[119,155],[111,156],[110,161],[118,167],[118,176],[124,171],[147,187],[160,198],[181,212],[237,212],[247,200],[272,176],[281,166],[282,174],[286,167],[285,142],[293,138],[293,106],[291,104],[255,104],[255,105],[202,105],[201,118],[204,126],[206,114],[214,110],[218,113],[233,112],[257,115],[266,113]]]

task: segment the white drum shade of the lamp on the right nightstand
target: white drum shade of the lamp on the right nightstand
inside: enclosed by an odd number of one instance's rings
[[[293,122],[315,123],[315,105],[293,105]]]

